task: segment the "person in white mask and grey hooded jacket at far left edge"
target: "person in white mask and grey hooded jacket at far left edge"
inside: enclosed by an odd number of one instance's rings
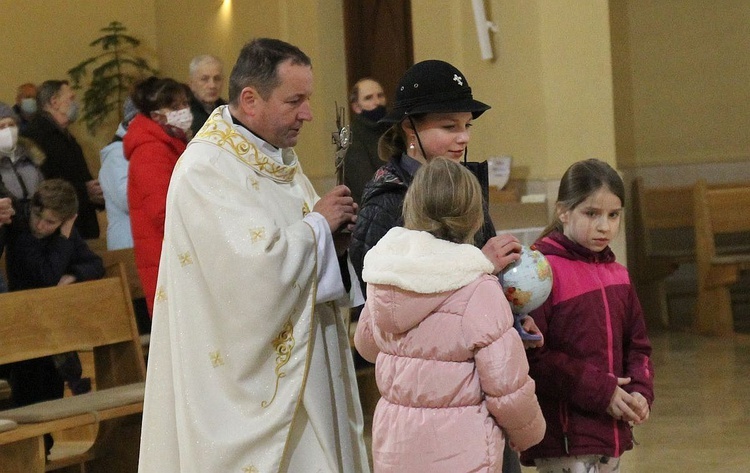
[[[0,178],[18,211],[28,214],[31,196],[44,177],[44,153],[31,140],[18,136],[20,118],[0,102]]]

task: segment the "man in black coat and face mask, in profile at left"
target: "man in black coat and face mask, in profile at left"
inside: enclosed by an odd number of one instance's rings
[[[33,140],[46,158],[41,165],[45,179],[65,179],[78,194],[76,228],[85,239],[99,238],[97,210],[104,209],[99,181],[86,164],[83,149],[70,133],[78,118],[75,91],[66,80],[47,80],[37,92],[39,111],[21,135]]]

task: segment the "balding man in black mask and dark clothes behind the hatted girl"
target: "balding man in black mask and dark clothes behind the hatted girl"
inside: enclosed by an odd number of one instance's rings
[[[352,142],[344,157],[344,185],[359,205],[365,184],[385,164],[378,157],[378,140],[388,129],[387,124],[378,123],[387,113],[383,87],[369,77],[358,80],[349,94],[349,105]]]

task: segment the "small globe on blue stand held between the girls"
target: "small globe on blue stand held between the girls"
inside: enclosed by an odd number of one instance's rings
[[[539,340],[521,327],[521,321],[532,310],[538,308],[552,292],[552,268],[537,250],[521,247],[521,258],[506,266],[498,275],[505,297],[515,315],[516,330],[524,340]]]

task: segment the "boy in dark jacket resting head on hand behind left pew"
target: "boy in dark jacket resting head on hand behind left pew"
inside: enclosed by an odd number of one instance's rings
[[[75,188],[63,179],[39,184],[31,198],[28,216],[17,215],[7,246],[8,286],[11,291],[61,286],[104,276],[102,260],[81,238],[74,222],[78,213]],[[16,406],[59,399],[64,382],[74,394],[91,390],[91,380],[81,377],[75,352],[14,363],[10,368],[11,392]],[[47,451],[51,438],[45,438]]]

